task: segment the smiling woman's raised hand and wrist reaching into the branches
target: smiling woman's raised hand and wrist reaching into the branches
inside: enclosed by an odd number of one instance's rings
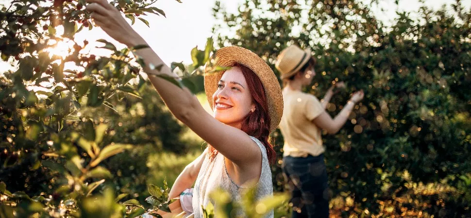
[[[133,47],[145,44],[142,37],[126,22],[121,13],[107,0],[86,0],[86,10],[91,13],[91,18],[96,25],[101,27],[116,41]]]

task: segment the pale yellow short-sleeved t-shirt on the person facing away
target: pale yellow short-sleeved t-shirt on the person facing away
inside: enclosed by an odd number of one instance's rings
[[[324,152],[321,129],[312,120],[324,108],[316,96],[288,88],[283,90],[283,117],[280,122],[281,134],[285,139],[283,156],[318,156]]]

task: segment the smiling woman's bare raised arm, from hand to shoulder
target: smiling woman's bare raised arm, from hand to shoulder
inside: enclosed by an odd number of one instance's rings
[[[128,47],[147,45],[121,13],[106,0],[86,1],[89,3],[86,10],[92,13],[94,22],[112,38]],[[135,55],[143,59],[144,71],[149,75],[149,80],[177,119],[239,167],[260,163],[260,149],[245,132],[214,119],[188,89],[153,76],[159,74],[180,79],[151,48],[138,49]],[[159,66],[160,70],[151,69],[151,65]]]

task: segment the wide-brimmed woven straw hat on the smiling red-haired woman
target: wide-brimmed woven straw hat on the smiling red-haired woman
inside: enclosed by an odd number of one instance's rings
[[[283,94],[280,83],[268,64],[252,51],[236,46],[220,48],[213,59],[216,61],[213,66],[229,67],[239,63],[250,68],[260,78],[267,95],[271,120],[270,132],[275,130],[283,115]],[[208,65],[204,69],[204,90],[211,109],[213,109],[213,94],[218,89],[219,80],[224,73],[224,71],[211,72],[212,70],[213,68]]]

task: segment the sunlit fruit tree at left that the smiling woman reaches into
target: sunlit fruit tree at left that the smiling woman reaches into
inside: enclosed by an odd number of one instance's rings
[[[149,25],[140,15],[165,16],[152,6],[155,1],[110,3],[132,24],[140,20]],[[139,202],[119,203],[133,193],[117,193],[119,188],[111,183],[114,175],[103,165],[107,158],[132,149],[134,141],[113,140],[115,126],[109,127],[114,123],[93,113],[103,107],[116,111],[112,102],[125,95],[140,98],[139,91],[147,85],[139,75],[142,62],[132,52],[144,46],[118,50],[100,39],[110,55],[84,52],[91,43],[74,39],[77,32],[94,28],[84,0],[9,3],[0,6],[0,55],[15,66],[0,77],[0,217],[141,215],[145,206]],[[64,46],[65,55],[54,52]],[[205,51],[195,48],[192,69],[198,70],[210,51],[212,41]],[[153,211],[168,208],[166,185],[148,189]]]

